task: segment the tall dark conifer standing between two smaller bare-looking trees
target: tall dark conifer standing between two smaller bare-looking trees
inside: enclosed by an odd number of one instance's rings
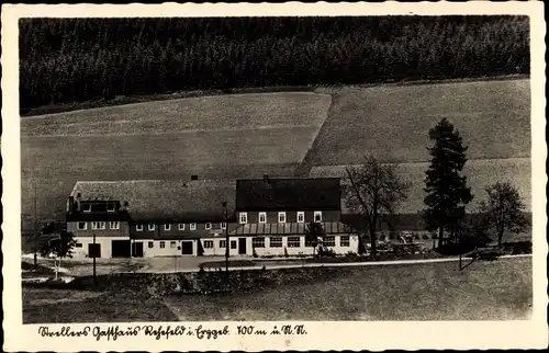
[[[426,171],[423,217],[427,229],[438,230],[438,246],[445,241],[445,230],[456,236],[466,214],[466,206],[473,198],[461,172],[467,162],[467,146],[459,132],[445,117],[429,129],[428,148],[430,166]]]

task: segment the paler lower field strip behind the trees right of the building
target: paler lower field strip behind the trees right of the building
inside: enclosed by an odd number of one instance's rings
[[[423,198],[425,186],[425,171],[428,162],[402,163],[397,167],[399,175],[411,183],[408,200],[403,203],[399,209],[400,213],[413,214],[424,206]],[[531,163],[529,158],[508,158],[508,159],[477,159],[469,160],[463,170],[468,176],[468,183],[472,187],[474,195],[473,202],[469,205],[470,210],[475,210],[478,203],[485,200],[484,187],[497,181],[509,181],[518,189],[526,206],[526,210],[531,210]],[[311,175],[320,176],[344,176],[345,166],[321,166],[313,167]],[[345,207],[345,204],[344,204]]]

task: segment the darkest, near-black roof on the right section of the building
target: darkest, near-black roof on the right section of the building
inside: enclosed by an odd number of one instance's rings
[[[236,182],[237,210],[340,210],[339,178]]]

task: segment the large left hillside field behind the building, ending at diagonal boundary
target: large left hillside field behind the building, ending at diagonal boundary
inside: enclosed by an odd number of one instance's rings
[[[21,119],[22,212],[60,216],[77,180],[291,174],[330,95],[267,93],[130,104]]]

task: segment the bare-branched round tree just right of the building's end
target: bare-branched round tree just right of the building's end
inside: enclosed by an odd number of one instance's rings
[[[380,219],[395,213],[397,205],[407,198],[408,189],[410,184],[396,174],[395,164],[382,163],[371,155],[363,164],[345,169],[344,198],[363,218],[373,255]]]

